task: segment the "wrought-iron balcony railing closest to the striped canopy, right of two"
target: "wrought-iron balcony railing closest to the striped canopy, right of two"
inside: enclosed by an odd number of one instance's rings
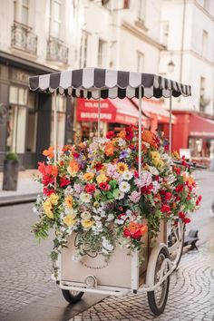
[[[56,38],[50,38],[47,41],[47,60],[59,63],[68,63],[68,47]]]

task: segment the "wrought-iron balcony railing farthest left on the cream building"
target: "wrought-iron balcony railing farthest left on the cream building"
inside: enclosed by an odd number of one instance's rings
[[[24,24],[15,23],[12,25],[11,45],[15,49],[23,50],[26,53],[36,54],[37,35],[32,33],[32,28]]]

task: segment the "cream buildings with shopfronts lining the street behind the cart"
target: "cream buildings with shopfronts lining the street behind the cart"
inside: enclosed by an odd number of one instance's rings
[[[16,151],[34,168],[53,144],[52,97],[28,76],[84,67],[160,73],[192,85],[173,99],[173,147],[209,157],[214,140],[214,2],[211,0],[1,0],[0,167]],[[58,145],[96,131],[97,102],[58,98]],[[143,99],[143,126],[169,131],[168,105]],[[102,101],[102,132],[138,118],[133,100]],[[183,132],[183,135],[180,135]]]

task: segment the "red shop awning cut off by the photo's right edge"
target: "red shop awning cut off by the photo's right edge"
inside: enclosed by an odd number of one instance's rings
[[[190,114],[189,134],[192,137],[214,137],[214,121],[195,113]]]

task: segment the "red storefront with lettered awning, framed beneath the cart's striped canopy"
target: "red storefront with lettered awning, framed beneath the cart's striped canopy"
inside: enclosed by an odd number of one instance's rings
[[[104,136],[107,131],[120,131],[124,126],[136,125],[139,112],[128,98],[120,100],[101,100],[101,130]],[[89,138],[97,131],[98,101],[78,98],[76,100],[76,135],[82,140]],[[142,115],[142,126],[148,128],[150,120]]]

